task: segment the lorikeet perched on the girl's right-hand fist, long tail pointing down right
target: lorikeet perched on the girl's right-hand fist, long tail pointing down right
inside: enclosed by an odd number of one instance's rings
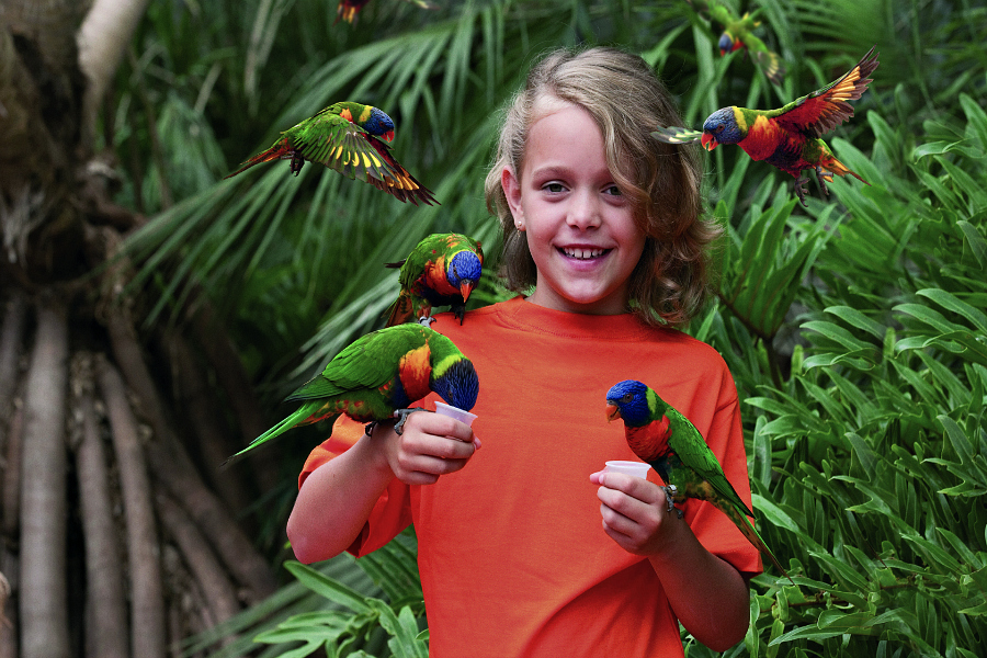
[[[668,510],[687,498],[712,503],[740,529],[744,536],[786,577],[789,574],[764,544],[745,504],[695,426],[654,390],[634,379],[606,393],[606,418],[624,420],[627,444],[651,465],[667,485]],[[681,510],[676,510],[681,518]]]

